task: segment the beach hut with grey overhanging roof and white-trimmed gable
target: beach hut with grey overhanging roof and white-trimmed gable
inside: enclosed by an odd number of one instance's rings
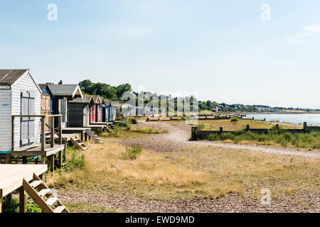
[[[69,101],[83,99],[81,89],[78,84],[48,84],[48,87],[53,94],[53,114],[62,114],[62,127],[66,128],[69,121]]]

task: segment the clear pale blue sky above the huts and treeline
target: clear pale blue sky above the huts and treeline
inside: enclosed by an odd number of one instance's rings
[[[58,21],[48,21],[48,4]],[[262,4],[271,21],[262,21]],[[320,108],[320,1],[0,3],[0,68],[229,104]]]

